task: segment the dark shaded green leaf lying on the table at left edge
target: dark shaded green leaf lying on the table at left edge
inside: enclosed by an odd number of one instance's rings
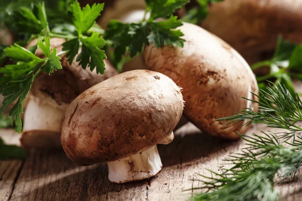
[[[0,138],[0,160],[25,159],[26,154],[21,147],[16,145],[6,145]]]

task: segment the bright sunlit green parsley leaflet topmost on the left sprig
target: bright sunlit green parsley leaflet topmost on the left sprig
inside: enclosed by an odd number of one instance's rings
[[[103,8],[104,4],[94,4],[92,7],[86,5],[82,10],[79,2],[75,1],[70,6],[68,15],[79,34],[84,34],[95,24]]]

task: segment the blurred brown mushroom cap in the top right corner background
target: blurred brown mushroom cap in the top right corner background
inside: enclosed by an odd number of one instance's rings
[[[224,0],[209,7],[200,26],[232,45],[244,58],[250,58],[273,50],[280,34],[301,43],[301,10],[300,0]]]

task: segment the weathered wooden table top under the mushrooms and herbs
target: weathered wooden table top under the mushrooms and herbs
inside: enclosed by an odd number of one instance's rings
[[[251,133],[268,130],[254,125]],[[272,129],[269,129],[272,130]],[[12,130],[0,130],[7,142],[19,143]],[[142,181],[114,184],[106,164],[82,167],[62,151],[32,151],[24,161],[0,161],[0,200],[186,200],[200,190],[196,173],[218,171],[230,153],[244,146],[242,140],[223,141],[203,135],[188,123],[175,133],[169,145],[159,145],[163,170]],[[209,174],[210,175],[210,174]],[[302,200],[301,180],[278,186],[285,200]]]

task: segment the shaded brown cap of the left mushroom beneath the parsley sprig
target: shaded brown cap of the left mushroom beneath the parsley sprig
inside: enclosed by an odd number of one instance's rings
[[[65,39],[50,38],[50,44],[52,48],[56,48],[57,52],[62,51],[62,44]],[[32,40],[27,49],[37,44],[37,39]],[[79,53],[81,48],[79,49]],[[36,55],[43,56],[40,48],[37,49]],[[61,56],[61,64],[63,69],[57,70],[51,73],[40,73],[31,88],[31,92],[34,96],[43,99],[48,104],[65,109],[71,101],[77,97],[80,93],[88,89],[89,87],[112,77],[118,72],[110,64],[109,60],[104,60],[106,65],[105,73],[97,74],[96,69],[91,71],[89,68],[83,69],[79,62],[76,61],[78,55],[76,55],[70,65],[65,55]]]

